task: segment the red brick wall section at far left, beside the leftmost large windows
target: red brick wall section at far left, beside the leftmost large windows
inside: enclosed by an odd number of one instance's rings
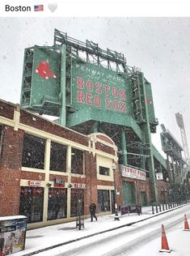
[[[0,166],[0,215],[18,215],[23,130],[15,131],[10,126],[4,126],[2,148]]]

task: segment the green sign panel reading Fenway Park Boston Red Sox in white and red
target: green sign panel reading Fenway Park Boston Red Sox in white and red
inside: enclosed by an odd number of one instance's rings
[[[72,62],[72,105],[131,114],[129,83],[116,71],[91,63]]]

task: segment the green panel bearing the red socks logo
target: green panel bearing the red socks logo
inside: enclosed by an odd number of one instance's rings
[[[60,54],[45,47],[34,47],[31,105],[42,105],[44,98],[59,100]]]

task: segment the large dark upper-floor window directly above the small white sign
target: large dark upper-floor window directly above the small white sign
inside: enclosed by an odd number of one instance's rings
[[[23,162],[24,167],[44,169],[45,140],[25,134],[23,138]]]

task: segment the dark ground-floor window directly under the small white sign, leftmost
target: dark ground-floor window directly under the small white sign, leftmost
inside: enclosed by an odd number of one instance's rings
[[[27,223],[43,220],[44,188],[22,186],[19,215],[27,216]]]

